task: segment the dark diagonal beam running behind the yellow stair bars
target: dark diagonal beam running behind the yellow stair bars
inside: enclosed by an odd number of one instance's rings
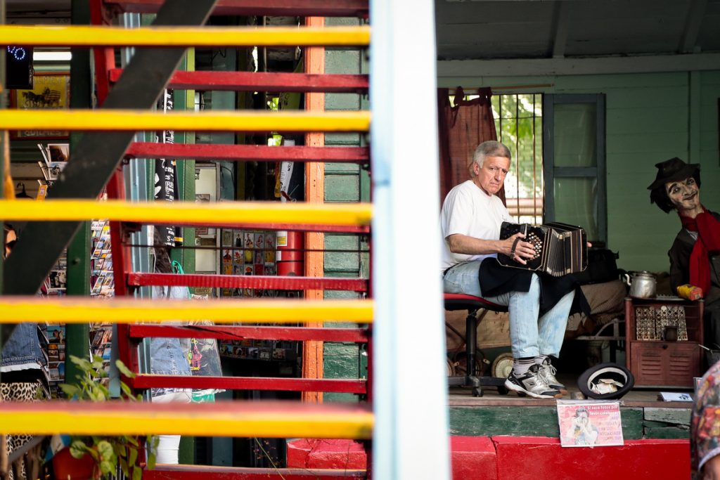
[[[201,26],[207,22],[216,1],[166,1],[153,24]],[[102,108],[152,108],[184,55],[185,50],[181,48],[136,50]],[[49,196],[55,199],[96,198],[120,164],[134,136],[135,132],[84,134]],[[35,294],[79,227],[80,222],[29,223],[6,263],[4,293]],[[72,261],[68,258],[68,262]]]

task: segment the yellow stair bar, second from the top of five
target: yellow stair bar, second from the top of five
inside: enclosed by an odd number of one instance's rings
[[[1,44],[0,44],[1,45]],[[192,132],[366,132],[370,112],[155,112],[147,110],[6,109],[0,130],[182,130]]]

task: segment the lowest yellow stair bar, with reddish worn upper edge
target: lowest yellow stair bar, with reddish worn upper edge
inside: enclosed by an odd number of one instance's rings
[[[364,407],[307,407],[299,402],[2,402],[0,434],[372,438],[374,417]]]

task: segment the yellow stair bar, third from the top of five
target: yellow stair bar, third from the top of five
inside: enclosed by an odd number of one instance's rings
[[[72,160],[71,160],[72,161]],[[121,200],[0,200],[0,219],[112,221],[171,225],[292,224],[362,226],[372,219],[372,204],[305,204],[279,201],[126,202]]]

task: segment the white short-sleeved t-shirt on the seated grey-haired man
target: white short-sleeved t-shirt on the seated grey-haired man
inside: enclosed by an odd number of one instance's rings
[[[472,180],[455,186],[445,197],[440,212],[440,230],[443,235],[442,270],[446,271],[456,263],[483,261],[489,255],[465,255],[452,253],[447,237],[460,233],[482,240],[499,240],[500,224],[514,222],[510,212],[498,196],[488,195]]]

